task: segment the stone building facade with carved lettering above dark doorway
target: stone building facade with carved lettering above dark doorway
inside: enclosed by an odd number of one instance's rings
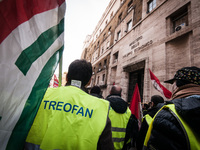
[[[111,0],[82,52],[103,96],[113,84],[130,101],[136,83],[142,102],[154,94],[149,69],[161,84],[185,66],[200,67],[199,0]]]

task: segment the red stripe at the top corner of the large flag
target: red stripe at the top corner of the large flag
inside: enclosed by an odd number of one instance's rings
[[[60,6],[65,0],[3,0],[0,2],[0,43],[34,15]],[[31,11],[30,11],[31,10]]]

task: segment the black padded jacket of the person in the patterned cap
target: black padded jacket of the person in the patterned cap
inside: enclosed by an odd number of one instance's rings
[[[200,95],[175,99],[177,113],[191,129],[200,136]],[[184,132],[177,119],[167,109],[162,109],[155,117],[147,149],[188,150]]]

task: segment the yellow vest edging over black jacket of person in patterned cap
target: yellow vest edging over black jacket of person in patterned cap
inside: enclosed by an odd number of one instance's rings
[[[200,137],[198,137],[196,135],[196,133],[191,130],[191,128],[189,127],[189,125],[177,113],[177,111],[175,109],[175,105],[174,104],[164,105],[159,111],[161,111],[162,109],[169,109],[169,111],[173,114],[173,116],[175,116],[175,118],[177,119],[177,121],[183,127],[182,128],[183,132],[186,133],[185,136],[186,136],[186,139],[188,140],[188,143],[187,143],[188,149],[190,149],[190,150],[200,149]],[[156,115],[154,116],[154,118],[156,117]],[[153,118],[153,121],[154,121],[154,118]],[[146,146],[146,147],[147,147],[150,135],[151,135],[151,130],[153,128],[153,121],[151,122],[151,124],[149,126],[149,129],[147,131],[147,136],[145,138],[144,146]]]

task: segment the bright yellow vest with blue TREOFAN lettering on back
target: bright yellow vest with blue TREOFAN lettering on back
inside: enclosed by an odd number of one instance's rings
[[[26,142],[40,149],[97,149],[105,128],[109,102],[73,86],[45,93]]]

